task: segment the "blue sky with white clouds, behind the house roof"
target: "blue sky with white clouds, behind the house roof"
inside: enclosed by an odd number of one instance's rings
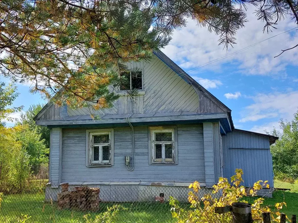
[[[249,22],[236,36],[237,44],[228,51],[218,46],[218,36],[199,27],[195,21],[176,30],[170,45],[162,51],[188,71],[295,27],[293,21],[286,20],[278,25],[278,30],[264,34],[263,23],[257,21],[251,11],[248,11]],[[236,128],[264,133],[274,126],[278,128],[281,118],[291,120],[297,111],[298,48],[274,58],[281,49],[297,43],[298,32],[294,29],[187,73],[232,110]],[[39,94],[31,94],[29,88],[29,85],[18,84],[20,96],[14,106],[24,105],[26,110],[30,104],[45,103]],[[13,117],[18,116],[13,114]]]

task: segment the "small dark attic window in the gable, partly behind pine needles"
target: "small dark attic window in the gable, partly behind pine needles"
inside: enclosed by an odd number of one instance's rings
[[[122,72],[121,78],[127,78],[127,85],[121,85],[120,90],[131,90],[133,88],[142,90],[142,71]]]

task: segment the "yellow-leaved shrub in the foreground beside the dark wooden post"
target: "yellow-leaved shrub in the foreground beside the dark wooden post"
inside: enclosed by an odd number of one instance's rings
[[[236,175],[231,177],[231,183],[229,183],[227,178],[219,178],[218,184],[213,186],[213,196],[211,194],[205,194],[203,197],[198,197],[198,191],[200,188],[200,183],[195,181],[190,184],[190,191],[188,194],[188,201],[190,202],[191,209],[184,209],[179,206],[179,201],[170,197],[170,205],[172,206],[172,216],[177,219],[179,223],[190,223],[190,222],[204,222],[204,223],[214,223],[214,222],[231,222],[231,214],[217,214],[215,213],[215,207],[225,207],[232,205],[234,202],[245,202],[243,200],[247,196],[247,192],[244,186],[240,186],[243,182],[242,179],[243,171],[242,169],[236,169]],[[261,188],[269,188],[268,181],[259,180],[254,183],[254,186],[249,191],[249,195],[256,196],[257,191]],[[216,195],[216,196],[214,196]],[[263,197],[259,197],[254,200],[252,204],[252,218],[255,222],[262,222],[262,213],[269,212],[270,208],[263,206]],[[274,212],[271,212],[272,222],[279,222],[280,212],[279,210],[286,205],[285,202],[277,203],[275,205]]]

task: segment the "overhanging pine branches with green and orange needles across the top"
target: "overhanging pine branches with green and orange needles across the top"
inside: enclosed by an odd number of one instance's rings
[[[235,44],[247,4],[258,7],[264,32],[287,15],[298,22],[297,0],[2,0],[1,71],[58,105],[109,107],[118,96],[108,86],[127,84],[126,62],[150,59],[187,18]]]

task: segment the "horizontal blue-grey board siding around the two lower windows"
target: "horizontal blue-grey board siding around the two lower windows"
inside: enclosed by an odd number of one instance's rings
[[[134,129],[134,171],[128,171],[124,163],[124,156],[131,154],[131,128],[114,128],[114,166],[111,167],[86,167],[86,129],[63,129],[62,181],[205,182],[202,124],[178,125],[178,165],[149,165],[148,127]]]

